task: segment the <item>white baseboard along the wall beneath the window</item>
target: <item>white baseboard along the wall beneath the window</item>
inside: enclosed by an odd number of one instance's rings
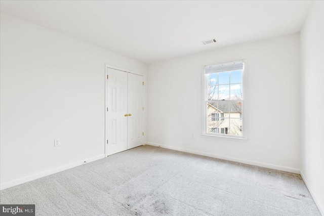
[[[281,170],[281,171],[287,171],[287,172],[293,172],[295,174],[300,174],[299,169],[287,167],[287,166],[280,166],[280,165],[275,165],[275,164],[271,164],[271,163],[263,163],[263,162],[257,162],[257,161],[252,161],[252,160],[245,160],[245,159],[240,159],[240,158],[216,155],[216,154],[194,151],[194,150],[189,150],[189,149],[183,149],[183,148],[178,148],[178,147],[173,147],[173,146],[160,145],[160,144],[151,143],[151,142],[146,142],[145,144],[151,145],[151,146],[156,146],[156,147],[161,147],[161,148],[166,148],[166,149],[172,149],[172,150],[192,153],[192,154],[214,157],[214,158],[223,159],[223,160],[230,160],[230,161],[234,161],[234,162],[238,162],[238,163],[245,163],[245,164],[249,164],[249,165],[261,166],[261,167],[266,167],[266,168],[270,168],[270,169],[277,169],[277,170]]]

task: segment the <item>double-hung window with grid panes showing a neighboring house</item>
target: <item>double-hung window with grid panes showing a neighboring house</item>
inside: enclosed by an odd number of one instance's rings
[[[204,134],[243,137],[244,62],[205,67]]]

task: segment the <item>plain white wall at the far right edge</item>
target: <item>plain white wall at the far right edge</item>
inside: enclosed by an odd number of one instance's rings
[[[324,215],[324,2],[316,1],[301,31],[303,178]]]

